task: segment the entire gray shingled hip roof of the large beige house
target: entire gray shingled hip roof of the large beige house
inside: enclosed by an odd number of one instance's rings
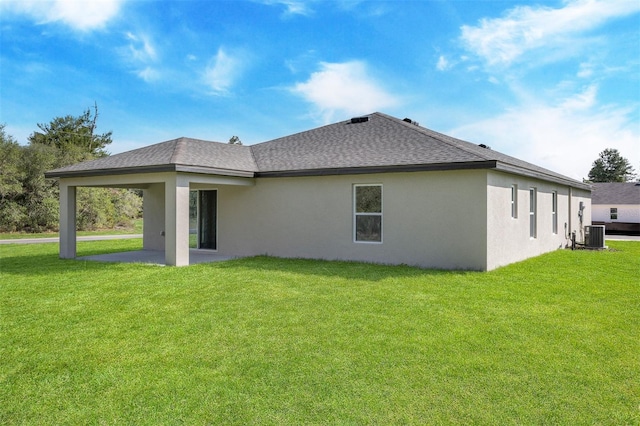
[[[148,171],[300,176],[491,168],[587,185],[517,158],[382,113],[251,146],[180,138],[47,173],[71,177]]]

